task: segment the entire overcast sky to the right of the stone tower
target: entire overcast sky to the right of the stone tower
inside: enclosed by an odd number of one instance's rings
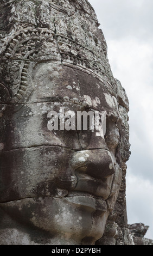
[[[128,222],[149,225],[145,237],[153,239],[153,1],[88,1],[103,30],[113,75],[130,101]]]

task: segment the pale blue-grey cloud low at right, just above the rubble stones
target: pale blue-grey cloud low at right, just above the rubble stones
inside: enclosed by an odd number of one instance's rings
[[[126,194],[128,194],[126,198],[128,206],[127,218],[129,224],[141,222],[149,225],[149,230],[145,237],[153,239],[153,205],[150,203],[152,202],[153,184],[147,179],[142,179],[141,176],[133,175],[130,170],[126,175],[126,181]]]

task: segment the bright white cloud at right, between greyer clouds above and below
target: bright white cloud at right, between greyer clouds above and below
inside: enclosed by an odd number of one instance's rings
[[[153,182],[153,48],[134,39],[110,40],[108,44],[113,74],[122,82],[130,101],[131,157],[127,163],[136,175]]]

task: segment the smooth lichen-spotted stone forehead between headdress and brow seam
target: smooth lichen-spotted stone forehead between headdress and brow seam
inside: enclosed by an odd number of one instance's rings
[[[69,66],[40,63],[33,70],[31,100],[71,102],[108,113],[118,112],[110,85],[92,74]]]

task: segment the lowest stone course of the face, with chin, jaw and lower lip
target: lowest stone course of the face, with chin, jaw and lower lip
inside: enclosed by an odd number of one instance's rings
[[[36,232],[47,237],[47,244],[60,241],[61,245],[94,245],[108,216],[104,200],[86,195],[21,199],[4,203],[3,210],[22,224],[22,232],[31,240]]]

